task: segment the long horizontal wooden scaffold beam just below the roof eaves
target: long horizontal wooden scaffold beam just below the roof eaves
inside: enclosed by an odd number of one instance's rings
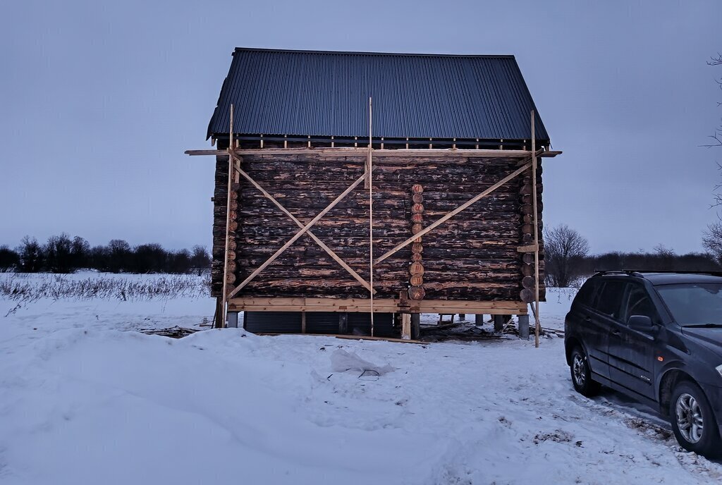
[[[316,147],[316,148],[264,148],[261,149],[236,149],[235,154],[243,157],[243,155],[287,155],[287,154],[324,154],[331,157],[347,157],[357,155],[364,157],[367,148],[365,147]],[[227,155],[225,150],[186,150],[188,155],[197,157],[203,155],[224,156]],[[556,157],[562,152],[559,150],[543,151],[539,157]],[[492,149],[375,149],[375,157],[488,157],[488,158],[526,158],[531,157],[530,150],[492,150]]]

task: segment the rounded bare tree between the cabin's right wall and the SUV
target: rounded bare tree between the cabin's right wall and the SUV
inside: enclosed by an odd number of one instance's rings
[[[581,275],[589,253],[585,237],[566,224],[544,230],[544,263],[550,287],[568,287]]]

